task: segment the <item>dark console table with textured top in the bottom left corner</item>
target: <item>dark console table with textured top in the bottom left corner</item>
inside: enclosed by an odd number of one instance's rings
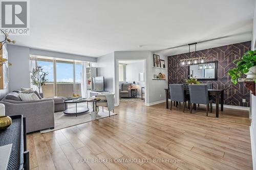
[[[7,169],[29,169],[26,117],[23,117],[23,115],[10,117],[12,118],[12,125],[5,130],[0,130],[0,146],[12,143]]]

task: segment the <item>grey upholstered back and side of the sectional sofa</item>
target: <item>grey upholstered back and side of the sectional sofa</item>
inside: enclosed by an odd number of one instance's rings
[[[15,95],[14,92],[12,94]],[[8,95],[8,94],[7,94]],[[54,101],[40,99],[38,101],[18,101],[4,98],[5,115],[23,114],[26,117],[27,133],[42,129],[54,128]]]

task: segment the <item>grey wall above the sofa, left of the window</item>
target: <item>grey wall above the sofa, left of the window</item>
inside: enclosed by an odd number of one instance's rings
[[[29,47],[7,45],[9,67],[9,91],[30,87]]]

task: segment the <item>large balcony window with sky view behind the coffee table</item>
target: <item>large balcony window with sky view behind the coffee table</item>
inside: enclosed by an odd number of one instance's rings
[[[70,97],[73,96],[73,94],[86,97],[87,87],[84,69],[88,63],[72,60],[48,59],[47,57],[40,56],[36,58],[37,65],[41,66],[44,71],[49,72],[47,76],[48,82],[45,86],[42,86],[42,92],[45,98],[52,96]]]

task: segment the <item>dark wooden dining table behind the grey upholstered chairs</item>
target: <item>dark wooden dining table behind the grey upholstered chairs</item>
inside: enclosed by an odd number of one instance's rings
[[[165,88],[165,102],[166,102],[166,109],[169,108],[169,102],[168,102],[168,94],[170,90],[168,88]],[[219,104],[221,104],[221,111],[223,111],[223,104],[224,104],[224,88],[211,88],[208,89],[208,95],[215,96],[216,101],[216,117],[219,117]],[[188,89],[184,89],[186,94],[189,94]]]

